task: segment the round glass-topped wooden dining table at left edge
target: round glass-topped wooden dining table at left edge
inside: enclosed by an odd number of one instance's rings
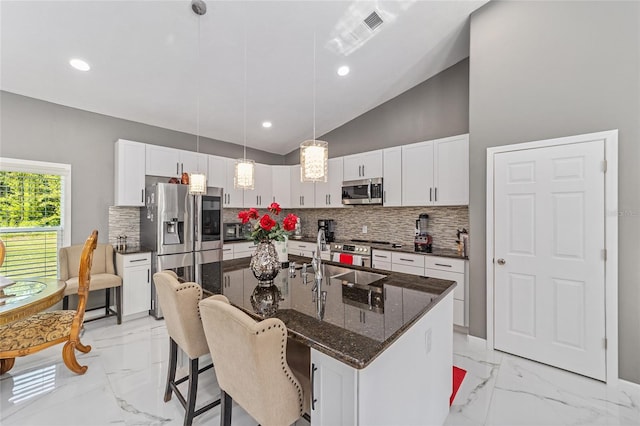
[[[50,308],[62,300],[66,287],[55,278],[1,278],[0,325]]]

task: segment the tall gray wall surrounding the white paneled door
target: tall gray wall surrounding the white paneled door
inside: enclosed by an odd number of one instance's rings
[[[640,4],[496,2],[471,17],[470,332],[486,335],[486,148],[619,129],[619,367],[640,383]]]

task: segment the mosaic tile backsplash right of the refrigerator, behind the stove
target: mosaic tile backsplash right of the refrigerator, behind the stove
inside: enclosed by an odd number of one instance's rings
[[[224,222],[237,222],[242,209],[224,209]],[[259,209],[260,213],[266,209]],[[315,237],[318,219],[333,219],[336,223],[336,239],[378,240],[413,245],[415,225],[420,213],[429,215],[429,234],[433,246],[441,249],[456,249],[456,231],[469,229],[469,207],[382,207],[354,206],[340,209],[287,209],[280,213],[293,213],[302,221],[302,233]],[[367,233],[362,232],[363,226]]]

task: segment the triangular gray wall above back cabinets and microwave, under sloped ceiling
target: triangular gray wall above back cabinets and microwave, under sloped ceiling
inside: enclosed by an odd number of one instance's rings
[[[464,59],[350,122],[320,136],[329,157],[388,148],[469,131],[469,60]],[[286,164],[300,163],[299,150]]]

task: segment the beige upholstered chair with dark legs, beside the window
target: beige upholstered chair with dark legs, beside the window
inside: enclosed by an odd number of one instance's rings
[[[58,269],[60,271],[60,281],[67,284],[64,290],[62,308],[69,309],[69,295],[78,293],[78,267],[80,266],[80,255],[82,245],[72,245],[62,247],[58,256]],[[116,310],[111,309],[111,289],[115,289]],[[113,246],[111,244],[98,244],[93,254],[93,266],[91,267],[91,288],[90,291],[104,290],[104,306],[87,309],[104,309],[104,315],[87,319],[93,321],[113,315],[118,317],[118,324],[122,323],[122,278],[116,275],[114,264]]]

